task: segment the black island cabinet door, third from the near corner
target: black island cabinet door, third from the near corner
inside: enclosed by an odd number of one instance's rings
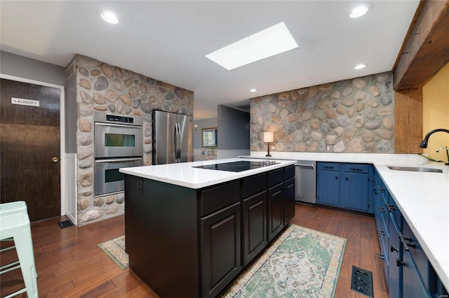
[[[283,228],[283,183],[268,189],[268,241]]]

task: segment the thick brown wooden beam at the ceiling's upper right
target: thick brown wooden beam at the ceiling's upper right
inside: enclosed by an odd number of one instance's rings
[[[394,90],[422,87],[449,62],[449,0],[421,1],[394,65]]]

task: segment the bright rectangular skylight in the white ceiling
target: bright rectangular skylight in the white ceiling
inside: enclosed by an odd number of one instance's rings
[[[297,48],[283,22],[206,55],[228,71]]]

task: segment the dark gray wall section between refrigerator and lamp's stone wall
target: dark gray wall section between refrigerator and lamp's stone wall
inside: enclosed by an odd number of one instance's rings
[[[218,149],[234,150],[250,148],[250,114],[219,105]]]

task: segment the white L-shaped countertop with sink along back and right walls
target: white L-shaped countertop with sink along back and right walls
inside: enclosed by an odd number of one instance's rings
[[[374,164],[410,229],[449,290],[449,171],[417,154],[271,152],[272,158]],[[265,152],[250,157],[267,158]],[[423,166],[443,173],[394,171],[387,166]]]

